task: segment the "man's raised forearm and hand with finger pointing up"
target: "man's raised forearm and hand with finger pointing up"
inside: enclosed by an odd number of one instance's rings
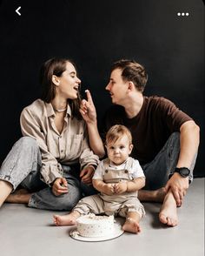
[[[89,90],[86,90],[88,100],[83,99],[80,112],[85,120],[89,132],[89,145],[93,152],[102,158],[105,154],[102,138],[97,128],[96,107]]]

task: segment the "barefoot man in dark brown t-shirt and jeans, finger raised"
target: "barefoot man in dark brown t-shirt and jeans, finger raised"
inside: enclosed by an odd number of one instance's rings
[[[106,131],[116,124],[126,125],[132,133],[131,154],[142,165],[146,176],[142,201],[162,202],[159,219],[163,224],[178,224],[177,206],[193,179],[199,145],[199,126],[166,98],[145,97],[142,92],[148,76],[141,64],[120,60],[113,64],[109,84],[112,106],[105,116]],[[83,100],[81,113],[89,130],[89,143],[99,156],[104,155],[97,130],[96,109],[91,95]]]

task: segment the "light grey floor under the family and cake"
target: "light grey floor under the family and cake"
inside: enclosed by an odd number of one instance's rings
[[[159,223],[159,204],[143,205],[147,215],[142,220],[142,233],[124,233],[104,242],[82,242],[69,237],[70,227],[52,225],[54,212],[4,204],[0,210],[0,255],[204,255],[204,179],[195,179],[190,186],[178,209],[179,226],[168,228]]]

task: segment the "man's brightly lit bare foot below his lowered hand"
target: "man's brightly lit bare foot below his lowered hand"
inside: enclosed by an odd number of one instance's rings
[[[163,224],[168,226],[176,226],[178,224],[178,217],[176,211],[175,198],[172,192],[168,192],[163,201],[159,219]]]

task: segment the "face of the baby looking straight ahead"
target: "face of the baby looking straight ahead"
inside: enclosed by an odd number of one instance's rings
[[[132,151],[133,145],[129,143],[129,138],[123,135],[122,138],[116,140],[115,143],[106,145],[109,160],[115,165],[121,165]]]

